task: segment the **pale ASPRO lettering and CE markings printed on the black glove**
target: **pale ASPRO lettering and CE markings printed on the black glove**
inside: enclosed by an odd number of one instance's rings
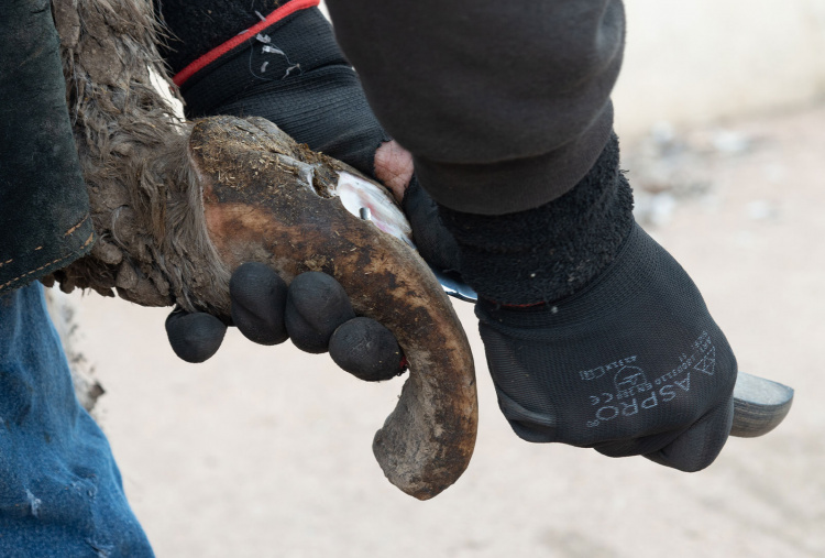
[[[711,342],[706,331],[692,344],[693,354],[684,353],[679,357],[680,364],[663,374],[653,383],[649,382],[647,374],[639,366],[624,365],[613,378],[615,394],[603,392],[600,395],[591,395],[591,406],[598,407],[593,419],[587,420],[588,428],[595,428],[620,416],[634,416],[645,409],[657,407],[659,403],[673,401],[680,393],[691,391],[691,372],[700,372],[705,375],[714,375],[716,368],[716,348]],[[617,362],[636,362],[636,357],[623,359]],[[609,364],[608,364],[609,366]],[[604,370],[600,366],[595,370]],[[604,375],[604,373],[602,374]],[[584,378],[584,376],[583,376]]]

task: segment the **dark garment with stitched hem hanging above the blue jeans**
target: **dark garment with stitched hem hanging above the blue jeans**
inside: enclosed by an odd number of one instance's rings
[[[48,0],[0,19],[0,296],[91,249],[89,198]]]

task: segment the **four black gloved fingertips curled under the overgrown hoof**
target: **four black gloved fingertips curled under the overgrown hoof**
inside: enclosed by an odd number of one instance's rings
[[[387,328],[355,317],[343,287],[326,273],[309,272],[286,283],[262,263],[244,263],[229,284],[232,322],[250,340],[278,344],[293,339],[302,351],[329,350],[332,360],[362,380],[377,381],[403,371],[403,354]],[[173,311],[166,332],[175,353],[204,362],[220,348],[227,326],[206,313]]]

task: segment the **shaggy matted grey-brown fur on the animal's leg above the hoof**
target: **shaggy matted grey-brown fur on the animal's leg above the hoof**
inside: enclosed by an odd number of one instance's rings
[[[151,80],[154,73],[168,83],[151,1],[54,0],[53,8],[99,240],[44,282],[227,315],[229,271],[207,234],[187,155],[190,124]]]

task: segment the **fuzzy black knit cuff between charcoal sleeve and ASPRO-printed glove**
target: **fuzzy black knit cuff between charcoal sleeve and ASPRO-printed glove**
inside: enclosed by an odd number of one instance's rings
[[[440,207],[459,243],[464,281],[505,305],[552,302],[581,289],[632,230],[632,193],[618,165],[613,134],[586,176],[549,204],[501,216]]]

